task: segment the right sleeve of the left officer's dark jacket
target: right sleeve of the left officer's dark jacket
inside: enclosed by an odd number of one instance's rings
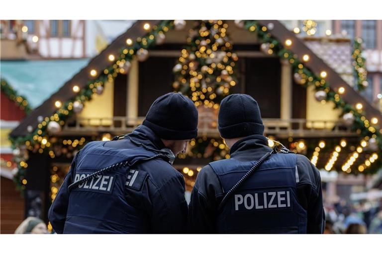
[[[154,186],[153,183],[151,183]],[[151,193],[151,231],[158,233],[185,233],[188,205],[185,198],[185,181],[181,174],[170,178]]]

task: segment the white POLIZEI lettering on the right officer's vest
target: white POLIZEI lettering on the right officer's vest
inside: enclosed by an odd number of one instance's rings
[[[290,207],[289,191],[235,194],[235,211]]]

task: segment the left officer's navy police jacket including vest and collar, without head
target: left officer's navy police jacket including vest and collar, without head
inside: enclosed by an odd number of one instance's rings
[[[128,135],[150,148],[165,148],[148,127]],[[68,191],[72,183],[120,162],[127,164]],[[76,154],[48,217],[58,234],[184,233],[187,213],[182,174],[125,138],[93,141]]]

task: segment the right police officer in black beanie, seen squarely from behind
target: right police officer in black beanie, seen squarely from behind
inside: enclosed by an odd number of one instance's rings
[[[303,155],[268,146],[257,102],[246,94],[227,96],[218,122],[230,159],[199,172],[189,205],[190,232],[323,233],[319,171]]]

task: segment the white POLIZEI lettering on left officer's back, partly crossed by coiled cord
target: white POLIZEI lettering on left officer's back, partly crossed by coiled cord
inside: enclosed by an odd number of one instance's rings
[[[76,174],[74,181],[80,181],[90,174]],[[84,191],[99,191],[111,193],[114,185],[114,177],[112,176],[96,176],[90,182],[86,181],[85,183],[78,186],[79,190]]]

